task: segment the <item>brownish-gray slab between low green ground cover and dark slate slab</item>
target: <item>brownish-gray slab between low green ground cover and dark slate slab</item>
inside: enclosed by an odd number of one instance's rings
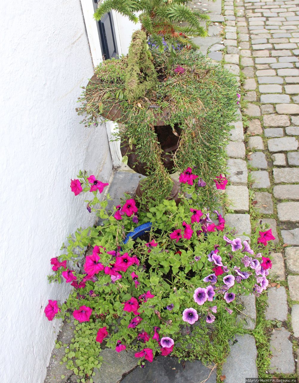
[[[104,349],[100,355],[103,362],[100,369],[94,369],[94,383],[117,383],[138,365],[138,358],[134,356],[135,351],[125,350],[120,353],[113,349]],[[140,369],[141,370],[141,369]]]

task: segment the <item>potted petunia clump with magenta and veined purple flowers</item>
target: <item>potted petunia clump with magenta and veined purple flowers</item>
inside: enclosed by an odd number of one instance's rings
[[[64,303],[49,300],[45,313],[49,320],[74,319],[63,362],[78,381],[92,382],[103,347],[120,353],[133,349],[141,364],[169,354],[218,362],[228,352],[229,339],[242,332],[237,298],[266,289],[267,242],[274,237],[271,229],[257,229],[250,245],[242,244],[218,211],[202,206],[199,190],[206,186],[197,178],[190,168],[180,175],[184,194],[178,206],[169,200],[136,205],[125,197],[111,214],[107,201],[97,197],[107,184],[85,172],[72,180],[75,195],[93,193],[87,209],[104,221],[79,229],[63,245],[64,254],[51,259],[50,282],[71,283],[74,290]],[[226,182],[219,177],[216,185],[225,188]],[[132,239],[128,233],[144,223],[148,232]],[[80,261],[76,247],[87,245]]]

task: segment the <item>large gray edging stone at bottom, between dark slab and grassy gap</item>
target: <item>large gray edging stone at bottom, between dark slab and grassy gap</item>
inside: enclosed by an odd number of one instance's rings
[[[222,368],[222,375],[227,383],[244,382],[245,378],[257,378],[256,365],[257,347],[252,335],[236,336],[236,343],[231,347],[226,362]],[[200,381],[198,381],[200,382]]]

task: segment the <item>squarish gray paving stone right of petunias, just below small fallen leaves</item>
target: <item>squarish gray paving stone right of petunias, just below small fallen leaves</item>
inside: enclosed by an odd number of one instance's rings
[[[268,320],[286,321],[288,319],[288,296],[283,286],[279,288],[270,287],[267,289],[268,307],[265,317]]]

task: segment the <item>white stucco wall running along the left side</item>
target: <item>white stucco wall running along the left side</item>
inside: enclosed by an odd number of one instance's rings
[[[0,21],[0,380],[41,383],[58,330],[44,308],[69,288],[48,284],[50,258],[95,221],[70,178],[106,182],[112,162],[106,128],[75,112],[93,74],[80,0],[3,2]]]

